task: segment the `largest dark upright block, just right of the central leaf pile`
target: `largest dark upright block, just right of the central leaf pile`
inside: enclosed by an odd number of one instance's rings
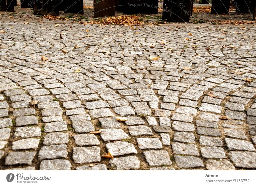
[[[191,0],[164,0],[162,19],[167,22],[189,22],[193,4]]]

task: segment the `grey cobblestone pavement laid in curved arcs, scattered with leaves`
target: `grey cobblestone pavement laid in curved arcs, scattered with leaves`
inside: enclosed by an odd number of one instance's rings
[[[0,30],[2,170],[255,169],[255,27]]]

